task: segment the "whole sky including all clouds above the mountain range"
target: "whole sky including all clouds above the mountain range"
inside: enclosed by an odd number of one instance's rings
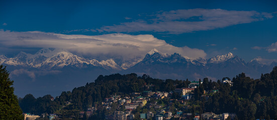
[[[192,58],[232,52],[265,63],[277,59],[276,6],[276,0],[1,0],[0,54],[59,47],[129,59],[157,48]]]

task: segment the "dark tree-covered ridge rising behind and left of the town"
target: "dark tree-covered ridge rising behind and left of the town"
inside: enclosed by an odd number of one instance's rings
[[[132,92],[148,90],[146,84],[153,84],[153,91],[169,92],[176,87],[187,87],[189,83],[189,80],[162,80],[151,78],[145,74],[137,76],[135,73],[126,75],[117,73],[106,76],[100,75],[95,82],[86,83],[85,86],[74,88],[71,92],[63,91],[54,101],[50,100],[51,95],[35,98],[32,94],[27,94],[24,98],[19,98],[19,103],[24,112],[34,114],[53,113],[61,108],[86,110],[115,93],[128,95]],[[71,104],[66,105],[66,101],[70,101]]]

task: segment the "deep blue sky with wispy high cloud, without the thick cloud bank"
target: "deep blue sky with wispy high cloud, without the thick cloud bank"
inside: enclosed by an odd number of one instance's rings
[[[176,47],[204,50],[207,58],[232,52],[246,61],[277,59],[276,6],[276,0],[1,0],[0,29],[152,34]],[[8,56],[41,47],[0,44]]]

